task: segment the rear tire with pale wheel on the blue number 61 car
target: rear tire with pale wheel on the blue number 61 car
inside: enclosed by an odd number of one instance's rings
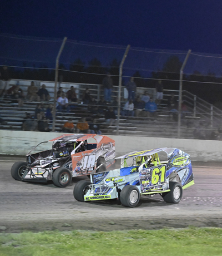
[[[175,181],[169,182],[170,191],[163,193],[162,197],[166,203],[178,204],[183,196],[182,185]]]

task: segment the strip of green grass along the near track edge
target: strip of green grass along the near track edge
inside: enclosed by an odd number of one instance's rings
[[[221,228],[0,234],[0,255],[222,255]]]

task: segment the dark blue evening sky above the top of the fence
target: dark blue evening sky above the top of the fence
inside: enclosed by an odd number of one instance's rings
[[[221,0],[7,0],[0,33],[222,54]]]

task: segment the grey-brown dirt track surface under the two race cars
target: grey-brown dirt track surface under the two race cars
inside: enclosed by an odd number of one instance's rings
[[[135,208],[117,200],[80,203],[73,197],[73,179],[67,188],[52,183],[33,184],[14,180],[11,166],[21,157],[0,160],[0,232],[32,230],[119,230],[222,227],[222,168],[194,163],[195,185],[183,191],[179,204],[165,203],[160,195],[142,196]]]

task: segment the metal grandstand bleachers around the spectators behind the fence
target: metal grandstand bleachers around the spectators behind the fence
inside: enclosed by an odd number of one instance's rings
[[[15,85],[18,81],[11,80],[10,84]],[[48,102],[43,102],[44,108],[49,103],[53,103],[54,98],[54,82],[48,81],[34,81],[37,87],[41,87],[44,83],[47,86],[47,90],[51,95],[51,100]],[[22,80],[19,81],[19,85],[22,88],[24,94],[27,94],[27,87],[30,85],[31,81]],[[89,88],[91,95],[99,100],[100,96],[103,96],[102,86],[93,85],[93,84],[81,84],[81,83],[59,83],[58,87],[63,87],[63,90],[66,92],[69,90],[70,86],[76,88],[79,102],[78,104],[73,104],[74,108],[67,112],[57,113],[56,116],[56,132],[61,132],[62,126],[69,117],[72,117],[74,124],[77,124],[78,120],[81,117],[86,117],[89,121],[89,117],[92,116],[90,113],[90,107],[81,103],[82,93],[85,88]],[[122,88],[121,93],[121,104],[124,105],[126,101],[125,97],[125,88]],[[138,87],[137,94],[142,95],[144,91],[148,91],[150,96],[153,96],[155,99],[155,89],[154,88],[142,88]],[[158,109],[157,118],[154,117],[125,117],[120,116],[119,119],[119,135],[134,135],[134,136],[149,136],[149,137],[176,137],[178,131],[178,122],[172,120],[170,112],[166,108],[166,101],[171,92],[175,93],[175,96],[178,97],[179,92],[173,90],[164,90],[164,100],[160,109]],[[118,87],[114,86],[113,89],[113,99],[118,95]],[[194,100],[195,99],[195,100]],[[211,105],[208,102],[204,102],[201,99],[197,99],[191,93],[184,91],[183,100],[188,106],[189,111],[183,115],[180,137],[183,139],[193,139],[194,128],[199,125],[200,120],[209,124],[210,129],[219,126],[220,115],[222,111],[212,109]],[[24,100],[22,107],[18,107],[17,104],[11,102],[10,99],[1,99],[1,117],[3,122],[0,126],[0,129],[7,130],[21,130],[22,122],[26,116],[26,112],[29,112],[31,115],[34,115],[34,110],[39,102],[38,101],[28,101]],[[108,107],[109,105],[107,105]],[[203,107],[204,106],[204,107]],[[104,135],[115,135],[117,134],[117,126],[109,126],[105,124],[104,115],[100,115],[98,122],[100,124],[100,130]],[[50,123],[52,125],[52,121]]]

